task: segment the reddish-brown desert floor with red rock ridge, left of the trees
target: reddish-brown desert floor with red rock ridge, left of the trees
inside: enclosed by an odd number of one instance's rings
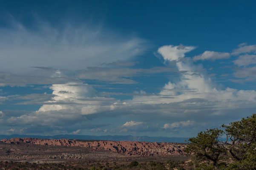
[[[0,168],[5,169],[145,169],[189,157],[181,143],[80,141],[15,138],[0,142]],[[137,161],[138,166],[131,166]],[[150,165],[151,162],[151,165]],[[147,165],[148,164],[148,165]],[[161,163],[161,166],[167,166]],[[151,168],[152,169],[152,168]],[[159,168],[158,168],[159,169]],[[166,169],[169,169],[166,167]]]

